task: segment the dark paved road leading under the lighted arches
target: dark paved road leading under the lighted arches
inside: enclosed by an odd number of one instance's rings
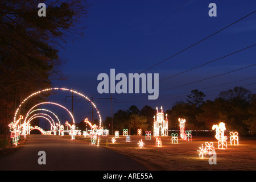
[[[39,151],[46,152],[46,164],[39,165]],[[125,155],[49,135],[29,135],[23,147],[0,158],[0,170],[147,170]]]

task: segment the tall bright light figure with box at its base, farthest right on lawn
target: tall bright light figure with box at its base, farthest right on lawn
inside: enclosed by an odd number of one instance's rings
[[[215,138],[218,140],[218,148],[219,149],[225,149],[227,147],[226,140],[228,139],[227,136],[225,136],[225,123],[220,122],[218,125],[213,125],[212,130],[216,130]]]

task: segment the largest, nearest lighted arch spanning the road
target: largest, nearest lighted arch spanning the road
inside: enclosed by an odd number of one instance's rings
[[[88,100],[92,105],[93,107],[96,109],[97,113],[98,113],[98,117],[99,117],[99,120],[100,120],[100,127],[101,127],[101,115],[100,115],[100,111],[98,111],[96,105],[88,98],[86,97],[84,94],[80,93],[80,92],[76,92],[75,90],[71,90],[71,89],[66,89],[66,88],[49,88],[49,89],[44,89],[44,90],[40,90],[38,92],[35,92],[35,93],[32,93],[30,96],[28,96],[27,98],[25,98],[21,104],[19,105],[19,107],[16,109],[15,111],[15,114],[14,114],[14,123],[16,123],[16,115],[18,114],[18,111],[20,109],[20,107],[31,97],[33,96],[36,96],[40,93],[43,93],[43,92],[48,92],[48,91],[51,91],[51,90],[63,90],[63,91],[69,91],[69,92],[72,92],[72,93],[75,93],[75,94],[78,94],[79,96],[82,96],[84,97],[86,100]]]

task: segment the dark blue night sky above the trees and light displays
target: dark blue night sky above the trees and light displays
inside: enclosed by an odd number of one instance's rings
[[[216,17],[208,15],[208,5],[212,2],[217,5]],[[65,50],[60,51],[60,56],[68,60],[63,73],[69,78],[65,81],[53,81],[53,86],[72,88],[93,97],[110,97],[110,94],[97,92],[100,82],[97,76],[100,73],[110,75],[111,68],[115,69],[116,74],[140,73],[252,13],[256,8],[255,0],[97,0],[88,3],[92,3],[92,6],[88,9],[88,16],[81,19],[80,24],[86,27],[83,30],[85,36],[69,41],[63,45]],[[255,44],[255,33],[256,13],[145,73],[159,73],[159,80],[162,80]],[[251,77],[256,77],[256,66],[188,84],[256,64],[255,50],[256,46],[160,81],[157,100],[148,100],[148,94],[112,94],[117,101],[113,104],[113,111],[127,110],[131,105],[136,105],[139,109],[144,105],[171,109],[175,101],[185,101],[193,89],[204,92],[207,96],[205,99],[209,100],[234,86],[243,86],[255,93],[256,79]],[[184,84],[188,85],[180,86]],[[175,88],[176,86],[179,87]],[[161,92],[165,89],[168,90]],[[65,101],[65,96],[71,94],[59,94],[61,102],[65,102],[70,108],[71,99]],[[52,96],[51,101],[57,97]],[[76,120],[89,118],[92,107],[85,101],[79,101],[79,98],[75,99],[73,112]],[[103,120],[111,116],[110,100],[94,101]]]

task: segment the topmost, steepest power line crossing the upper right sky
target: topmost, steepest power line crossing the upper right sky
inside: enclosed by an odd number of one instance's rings
[[[254,14],[255,12],[256,12],[256,11],[253,11],[252,13],[250,13],[250,14],[248,14],[248,15],[246,15],[246,16],[243,16],[241,19],[236,20],[236,22],[233,22],[233,23],[229,24],[228,26],[222,28],[221,30],[218,30],[217,32],[214,32],[213,34],[207,36],[206,38],[200,40],[199,42],[196,42],[195,44],[192,44],[191,46],[189,46],[189,47],[183,49],[182,51],[179,51],[179,52],[175,53],[174,55],[168,57],[167,59],[164,59],[164,60],[160,61],[159,63],[156,63],[155,65],[152,65],[151,67],[145,69],[145,70],[142,71],[141,73],[146,72],[146,71],[148,71],[149,69],[156,67],[157,65],[163,63],[164,61],[167,61],[167,60],[171,59],[172,57],[175,57],[176,55],[179,55],[181,52],[184,52],[184,51],[186,51],[187,49],[189,49],[189,48],[191,48],[191,47],[193,47],[193,46],[196,46],[196,44],[199,44],[199,43],[203,42],[204,40],[210,38],[211,36],[218,34],[218,32],[221,32],[222,30],[225,30],[226,28],[232,26],[233,24],[235,24],[235,23],[237,23],[237,22],[240,22],[240,20],[245,19],[247,16],[250,16],[250,15]],[[139,74],[141,74],[141,73],[139,73]]]

